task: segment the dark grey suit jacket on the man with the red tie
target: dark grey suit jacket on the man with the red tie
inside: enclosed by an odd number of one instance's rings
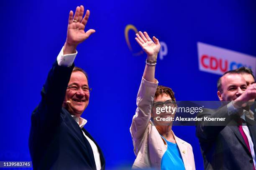
[[[253,170],[253,158],[238,130],[237,115],[228,115],[227,105],[217,110],[205,109],[197,117],[225,117],[222,125],[198,122],[196,135],[200,142],[206,170]],[[255,121],[246,117],[254,145],[256,144]],[[256,153],[256,152],[255,152]]]

